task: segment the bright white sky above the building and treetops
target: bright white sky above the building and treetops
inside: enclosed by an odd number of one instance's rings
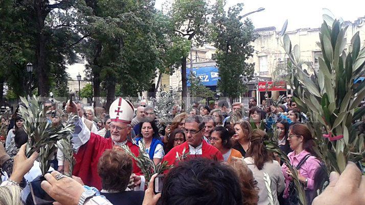
[[[156,8],[161,9],[166,0],[156,0]],[[168,0],[171,1],[171,0]],[[286,31],[300,28],[319,28],[323,22],[323,8],[329,9],[337,18],[354,22],[358,17],[365,16],[365,1],[363,0],[226,0],[226,9],[237,3],[244,3],[242,14],[265,8],[264,11],[249,15],[255,28],[276,27],[280,31],[288,19]]]

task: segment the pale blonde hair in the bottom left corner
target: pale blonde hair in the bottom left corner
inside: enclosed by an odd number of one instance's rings
[[[0,205],[22,205],[20,191],[15,185],[0,187]]]

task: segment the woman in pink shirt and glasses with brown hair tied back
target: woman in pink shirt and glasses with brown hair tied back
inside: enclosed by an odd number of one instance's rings
[[[305,190],[314,189],[314,175],[317,169],[321,166],[320,160],[313,149],[314,142],[308,127],[304,124],[293,124],[289,128],[288,141],[290,148],[294,151],[288,153],[290,164],[298,168],[299,181],[303,184]],[[302,161],[302,162],[301,162]],[[289,183],[292,180],[292,173],[289,168],[282,165],[282,171],[285,177],[284,199],[289,197]],[[307,204],[311,204],[307,201]]]

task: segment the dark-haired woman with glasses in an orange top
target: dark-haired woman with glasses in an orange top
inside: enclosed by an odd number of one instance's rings
[[[216,126],[210,133],[209,141],[223,155],[225,162],[231,162],[232,157],[242,158],[241,152],[232,148],[231,134],[223,126]]]

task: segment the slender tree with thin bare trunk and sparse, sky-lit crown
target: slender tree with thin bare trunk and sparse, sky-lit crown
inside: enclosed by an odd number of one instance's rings
[[[176,0],[169,12],[174,31],[181,37],[194,41],[196,46],[207,41],[209,31],[209,7],[206,0]],[[191,42],[191,44],[193,44]],[[186,62],[188,53],[181,58],[182,99],[188,96]],[[186,105],[186,104],[185,104]]]

